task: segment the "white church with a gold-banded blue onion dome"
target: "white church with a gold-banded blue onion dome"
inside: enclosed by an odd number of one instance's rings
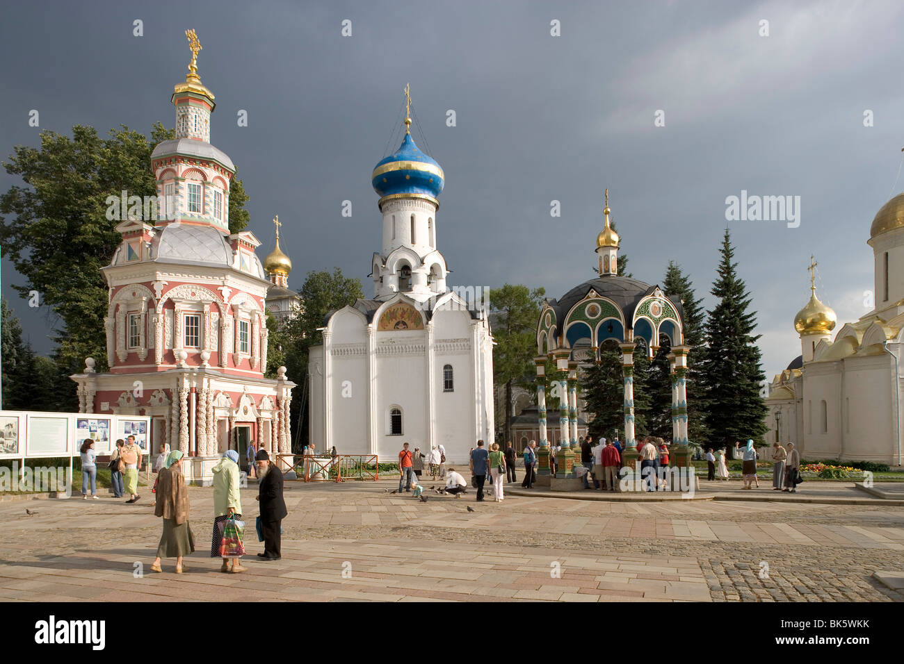
[[[406,89],[406,94],[408,90]],[[382,216],[373,298],[327,315],[308,363],[317,450],[396,461],[403,443],[464,461],[494,437],[493,337],[485,311],[447,289],[438,249],[442,168],[410,135],[372,173]]]

